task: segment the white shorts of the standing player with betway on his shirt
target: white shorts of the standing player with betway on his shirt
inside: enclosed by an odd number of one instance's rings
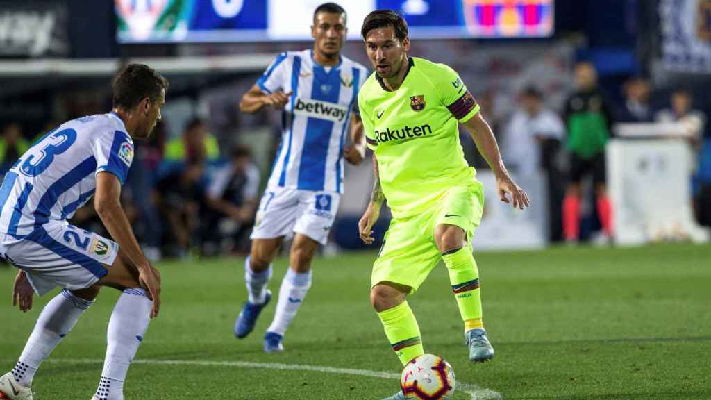
[[[264,191],[252,239],[279,238],[301,233],[321,244],[328,242],[341,194],[284,187]]]

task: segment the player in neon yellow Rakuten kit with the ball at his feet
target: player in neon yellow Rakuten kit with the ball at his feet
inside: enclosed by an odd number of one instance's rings
[[[483,186],[459,143],[464,124],[496,175],[501,201],[523,209],[528,196],[508,176],[496,139],[479,105],[454,70],[407,56],[407,23],[393,11],[373,11],[363,38],[375,73],[358,95],[375,187],[358,223],[373,243],[372,227],[387,200],[392,221],[373,265],[370,300],[402,364],[424,354],[415,315],[405,297],[444,260],[461,317],[469,359],[493,357],[481,321],[479,272],[471,236],[483,210]],[[506,196],[510,195],[510,199]],[[389,399],[404,399],[398,392]]]

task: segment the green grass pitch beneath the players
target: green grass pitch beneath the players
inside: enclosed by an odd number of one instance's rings
[[[163,263],[163,308],[138,359],[232,361],[399,372],[368,303],[375,253],[319,258],[284,354],[263,354],[274,307],[245,340],[232,322],[245,298],[242,260]],[[440,265],[410,298],[425,350],[459,381],[505,399],[711,399],[711,246],[558,248],[481,253],[484,321],[496,358],[466,362],[461,321]],[[285,263],[277,263],[278,291]],[[20,354],[41,306],[9,304],[14,269],[0,268],[0,370]],[[1,298],[1,296],[0,296]],[[89,400],[101,373],[117,292],[104,289],[34,381],[38,400]],[[63,362],[88,359],[90,362]],[[393,379],[210,365],[134,364],[127,399],[380,399]],[[466,399],[462,393],[455,399]]]

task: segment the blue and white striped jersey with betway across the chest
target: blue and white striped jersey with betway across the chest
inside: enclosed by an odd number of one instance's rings
[[[341,56],[324,67],[311,50],[279,54],[257,80],[265,93],[292,92],[268,186],[343,192],[343,143],[368,70]]]

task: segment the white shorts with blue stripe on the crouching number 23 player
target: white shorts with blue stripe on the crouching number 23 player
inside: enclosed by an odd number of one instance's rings
[[[94,285],[118,253],[114,241],[67,221],[50,221],[22,238],[0,233],[0,256],[25,271],[38,295]]]

